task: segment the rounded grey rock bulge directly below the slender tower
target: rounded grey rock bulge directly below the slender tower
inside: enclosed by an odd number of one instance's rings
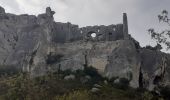
[[[117,41],[117,47],[109,56],[105,74],[109,78],[126,78],[130,85],[138,87],[140,55],[130,40]]]

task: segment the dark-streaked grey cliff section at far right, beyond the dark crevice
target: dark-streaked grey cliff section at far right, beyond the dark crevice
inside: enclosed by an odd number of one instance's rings
[[[153,90],[156,86],[169,84],[169,57],[160,51],[141,49],[141,87]]]

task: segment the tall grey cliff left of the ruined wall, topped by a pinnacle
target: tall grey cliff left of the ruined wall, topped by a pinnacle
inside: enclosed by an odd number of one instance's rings
[[[4,17],[0,19],[0,64],[14,65],[24,71],[34,70],[37,66],[44,69],[53,24],[53,17],[49,14],[47,8],[42,20],[42,17],[33,15],[1,13]]]

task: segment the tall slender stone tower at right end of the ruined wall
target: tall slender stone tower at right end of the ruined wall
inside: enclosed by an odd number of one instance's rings
[[[129,39],[127,14],[123,13],[123,35],[124,39]]]

